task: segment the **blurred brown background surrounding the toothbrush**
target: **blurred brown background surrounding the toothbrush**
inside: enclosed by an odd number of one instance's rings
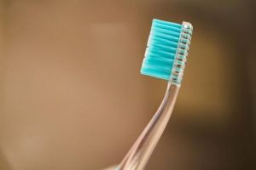
[[[140,75],[151,21],[194,25],[147,170],[256,169],[253,0],[0,0],[0,169],[119,163],[165,93]]]

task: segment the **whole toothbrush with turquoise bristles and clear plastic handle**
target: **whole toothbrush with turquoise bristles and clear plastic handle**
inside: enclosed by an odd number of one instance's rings
[[[168,81],[165,97],[116,170],[143,170],[172,115],[183,79],[193,26],[153,20],[141,73]]]

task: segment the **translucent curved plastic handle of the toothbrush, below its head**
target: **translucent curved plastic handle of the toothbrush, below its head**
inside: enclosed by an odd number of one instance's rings
[[[116,170],[142,170],[145,167],[172,115],[178,91],[179,86],[168,82],[166,95],[159,109]]]

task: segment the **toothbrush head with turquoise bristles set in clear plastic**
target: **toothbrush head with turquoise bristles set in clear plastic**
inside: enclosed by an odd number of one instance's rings
[[[189,53],[193,26],[154,19],[141,73],[180,85]]]

